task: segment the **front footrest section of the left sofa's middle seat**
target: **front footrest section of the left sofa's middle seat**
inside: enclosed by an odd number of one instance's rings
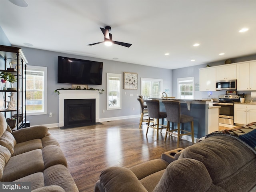
[[[44,158],[45,169],[56,164],[62,164],[68,167],[67,160],[62,150],[56,145],[49,145],[42,148],[42,154]]]

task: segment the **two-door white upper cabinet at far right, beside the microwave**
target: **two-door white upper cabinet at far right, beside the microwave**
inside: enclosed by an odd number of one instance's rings
[[[256,62],[237,64],[237,90],[256,90]]]

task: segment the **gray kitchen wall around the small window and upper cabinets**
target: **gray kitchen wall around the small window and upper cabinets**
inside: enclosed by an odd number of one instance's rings
[[[232,63],[237,63],[237,62],[243,62],[243,61],[250,61],[250,60],[256,60],[256,54],[250,55],[250,56],[243,56],[243,57],[238,57],[238,58],[231,58]],[[177,97],[177,78],[184,78],[184,77],[194,77],[194,83],[199,84],[199,69],[200,68],[205,68],[207,64],[209,66],[218,66],[218,65],[223,65],[225,63],[225,60],[217,61],[217,62],[211,62],[211,63],[206,63],[202,65],[197,65],[197,66],[191,66],[191,67],[186,67],[186,68],[179,68],[179,69],[174,69],[172,70],[172,94],[173,96]],[[202,99],[202,98],[207,98],[208,97],[207,91],[196,91],[194,93],[194,98],[195,99]],[[210,98],[218,98],[218,95],[225,94],[226,91],[212,91],[212,96]],[[250,91],[238,91],[237,94],[245,93],[247,94],[246,99],[250,100]]]

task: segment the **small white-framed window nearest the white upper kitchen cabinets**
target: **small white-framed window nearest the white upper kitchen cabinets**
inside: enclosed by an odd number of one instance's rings
[[[194,99],[194,77],[178,78],[178,99]]]

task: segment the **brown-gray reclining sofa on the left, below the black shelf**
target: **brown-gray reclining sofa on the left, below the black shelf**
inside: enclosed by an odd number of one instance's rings
[[[0,113],[0,181],[31,182],[32,192],[78,192],[58,142],[45,126],[16,131]]]

